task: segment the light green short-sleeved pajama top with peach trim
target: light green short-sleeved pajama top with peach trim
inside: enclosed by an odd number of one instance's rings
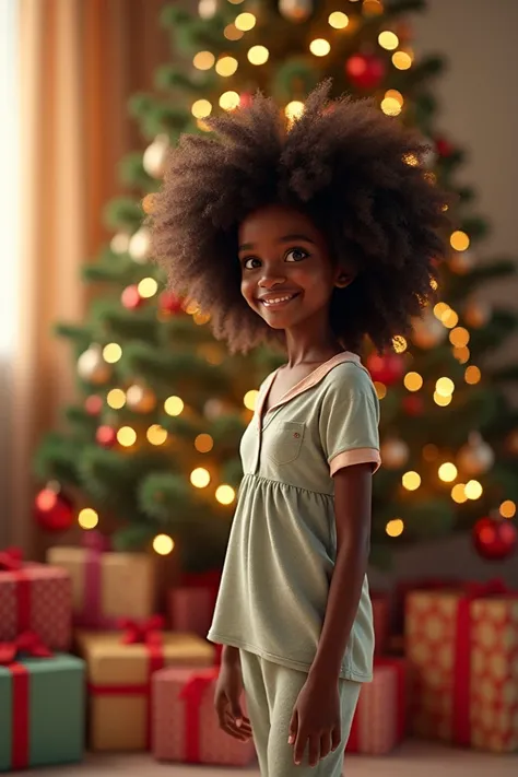
[[[379,403],[353,353],[317,367],[263,413],[274,376],[242,439],[244,478],[208,636],[307,672],[337,557],[332,475],[351,464],[379,467]],[[373,651],[365,577],[341,678],[372,680]]]

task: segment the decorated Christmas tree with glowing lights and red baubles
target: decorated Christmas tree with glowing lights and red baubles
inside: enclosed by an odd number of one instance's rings
[[[38,451],[37,473],[50,481],[37,497],[42,520],[59,522],[73,492],[80,525],[115,523],[118,546],[153,541],[166,553],[175,545],[191,569],[221,562],[242,475],[239,437],[260,380],[283,358],[225,352],[211,334],[210,311],[188,290],[165,287],[145,220],[180,134],[210,131],[209,116],[246,105],[258,89],[295,121],[308,92],[332,76],[333,96],[369,96],[395,121],[417,127],[429,145],[426,175],[456,196],[437,304],[411,339],[395,339],[393,352],[366,344],[385,464],[374,481],[372,561],[385,564],[399,543],[472,527],[482,553],[510,552],[518,413],[506,384],[518,370],[484,365],[517,319],[478,292],[514,264],[479,256],[488,226],[472,210],[474,191],[457,183],[462,149],[437,125],[433,81],[443,61],[419,60],[412,50],[408,14],[424,5],[200,0],[191,13],[177,3],[164,9],[172,62],[156,73],[153,94],[131,101],[148,143],[121,167],[134,196],[109,203],[113,239],[84,271],[106,294],[84,323],[58,328],[74,346],[81,400],[67,410],[67,433],[50,434]]]

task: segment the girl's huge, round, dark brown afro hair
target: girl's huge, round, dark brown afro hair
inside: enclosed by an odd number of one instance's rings
[[[149,219],[152,255],[233,352],[279,338],[243,298],[237,258],[239,224],[267,204],[301,209],[333,261],[354,268],[331,298],[344,348],[367,335],[384,350],[433,295],[449,219],[426,146],[370,102],[329,92],[329,81],[317,86],[291,125],[258,93],[211,119],[211,134],[183,136],[169,152]]]

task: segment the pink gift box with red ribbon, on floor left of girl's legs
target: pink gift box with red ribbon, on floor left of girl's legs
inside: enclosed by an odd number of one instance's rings
[[[250,739],[240,742],[220,729],[214,711],[217,669],[163,669],[153,676],[153,754],[158,761],[247,766]],[[246,711],[245,698],[243,709]]]

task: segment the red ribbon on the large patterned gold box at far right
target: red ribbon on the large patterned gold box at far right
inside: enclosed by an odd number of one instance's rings
[[[467,584],[463,590],[464,596],[457,605],[455,634],[452,734],[457,744],[468,746],[471,744],[471,603],[475,599],[508,594],[518,598],[518,594],[509,591],[498,578],[485,584]]]

